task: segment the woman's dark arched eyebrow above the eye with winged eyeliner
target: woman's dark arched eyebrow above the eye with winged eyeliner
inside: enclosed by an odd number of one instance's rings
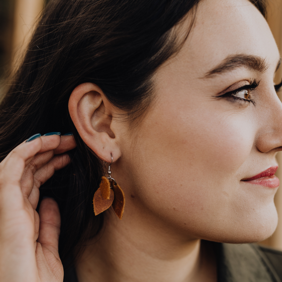
[[[277,65],[277,69],[280,63],[281,59]],[[264,73],[269,66],[266,63],[266,60],[259,56],[245,54],[229,56],[223,61],[223,63],[207,72],[204,78],[210,78],[215,76],[216,74],[234,70],[237,67],[247,67],[250,70],[255,70],[257,72]]]

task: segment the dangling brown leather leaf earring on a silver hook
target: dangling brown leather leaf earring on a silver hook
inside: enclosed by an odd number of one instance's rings
[[[112,162],[108,166],[109,177],[102,176],[100,186],[93,197],[94,213],[95,215],[98,215],[112,206],[118,218],[122,219],[125,206],[125,195],[122,188],[116,184],[116,180],[111,177],[111,165],[113,163],[112,154],[111,158]]]

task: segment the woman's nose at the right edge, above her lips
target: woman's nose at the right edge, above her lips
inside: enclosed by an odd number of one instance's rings
[[[274,87],[270,89],[256,109],[260,123],[255,145],[262,153],[282,151],[282,103]]]

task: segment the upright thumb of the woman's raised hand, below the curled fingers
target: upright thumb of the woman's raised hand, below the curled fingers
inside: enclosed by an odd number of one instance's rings
[[[37,242],[48,248],[58,259],[61,217],[58,204],[52,198],[43,199],[39,208],[39,236]]]

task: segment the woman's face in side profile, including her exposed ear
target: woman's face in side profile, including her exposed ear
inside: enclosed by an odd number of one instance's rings
[[[107,211],[113,224],[138,226],[140,237],[148,225],[183,240],[270,236],[279,180],[248,179],[267,169],[272,175],[277,166],[278,63],[272,33],[254,5],[203,0],[183,47],[155,73],[154,99],[138,122],[126,122],[98,86],[78,86],[69,101],[72,120],[100,158],[109,162],[112,153],[112,176],[125,192],[122,221]]]

